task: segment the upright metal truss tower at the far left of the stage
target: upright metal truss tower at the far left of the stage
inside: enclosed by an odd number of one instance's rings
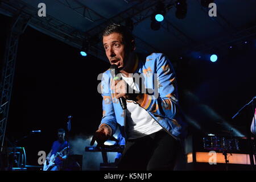
[[[19,14],[14,16],[14,22],[11,24],[11,30],[7,37],[5,57],[3,60],[2,77],[0,85],[0,143],[1,152],[5,140],[6,124],[9,113],[11,92],[13,89],[13,80],[15,72],[16,54],[18,49],[19,36],[24,32],[30,17]]]

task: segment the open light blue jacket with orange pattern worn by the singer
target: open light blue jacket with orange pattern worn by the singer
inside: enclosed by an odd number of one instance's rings
[[[176,78],[170,60],[162,53],[152,53],[146,59],[139,57],[138,60],[134,73],[138,73],[142,77],[142,88],[147,89],[141,107],[172,137],[179,139],[183,123],[177,118]],[[108,69],[103,73],[101,79],[103,97],[101,125],[103,123],[109,125],[112,128],[112,134],[119,127],[123,136],[126,137],[124,112],[110,89],[111,80],[112,75]],[[137,86],[137,88],[139,87]]]

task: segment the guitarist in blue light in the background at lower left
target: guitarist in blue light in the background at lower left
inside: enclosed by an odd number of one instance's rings
[[[53,142],[52,149],[46,157],[46,160],[50,160],[52,155],[56,155],[57,152],[63,150],[63,148],[69,147],[67,140],[65,140],[65,130],[58,130],[58,140]],[[63,169],[64,160],[67,159],[67,150],[63,151],[63,154],[60,154],[57,158],[55,158],[55,165],[51,168],[51,171],[60,171]]]

